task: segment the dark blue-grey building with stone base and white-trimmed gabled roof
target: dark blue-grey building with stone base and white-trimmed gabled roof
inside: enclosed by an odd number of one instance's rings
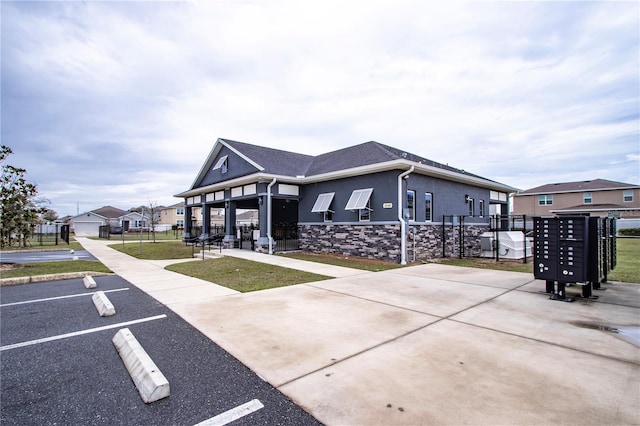
[[[225,210],[224,244],[235,244],[236,211],[257,210],[256,250],[295,238],[303,250],[399,261],[407,259],[407,230],[416,259],[442,255],[445,215],[506,214],[510,186],[367,142],[318,156],[218,139],[185,199],[185,234],[202,208],[202,232],[213,209]],[[196,215],[197,217],[197,215]],[[454,219],[455,221],[455,219]],[[488,220],[467,220],[477,235]],[[277,228],[287,229],[282,236]],[[479,244],[479,243],[478,243]]]

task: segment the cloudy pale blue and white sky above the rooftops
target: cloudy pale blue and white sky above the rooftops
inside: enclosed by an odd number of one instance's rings
[[[7,163],[60,216],[169,205],[219,137],[375,140],[527,189],[640,183],[640,3],[1,2]]]

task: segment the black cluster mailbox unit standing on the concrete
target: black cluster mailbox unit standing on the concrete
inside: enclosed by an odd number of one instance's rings
[[[533,274],[546,281],[551,299],[571,302],[567,284],[582,286],[582,297],[596,298],[616,265],[615,219],[588,216],[533,218]]]

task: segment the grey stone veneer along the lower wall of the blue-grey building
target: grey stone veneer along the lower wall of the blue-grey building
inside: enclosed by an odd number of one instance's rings
[[[445,227],[447,257],[459,255],[459,227]],[[464,253],[480,251],[483,225],[465,225]],[[319,224],[298,227],[300,248],[315,253],[400,262],[400,224]],[[415,252],[415,256],[414,256]],[[442,225],[410,225],[407,261],[442,257]]]

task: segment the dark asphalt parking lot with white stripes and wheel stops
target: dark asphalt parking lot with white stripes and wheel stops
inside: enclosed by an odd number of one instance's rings
[[[135,286],[95,280],[115,315],[98,315],[81,279],[0,289],[3,425],[195,425],[254,400],[263,407],[234,424],[319,424]],[[125,327],[168,379],[168,398],[142,401],[112,343]]]

